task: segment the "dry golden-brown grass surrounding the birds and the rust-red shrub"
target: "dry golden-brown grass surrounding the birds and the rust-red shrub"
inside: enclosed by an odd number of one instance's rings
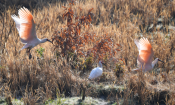
[[[62,16],[65,13],[63,5],[69,7],[69,3],[56,3],[43,6],[42,9],[31,9],[39,38],[51,39],[56,30],[61,32],[66,28],[67,21]],[[83,28],[81,34],[88,32],[94,35],[94,40],[89,41],[83,50],[93,48],[97,44],[94,42],[100,43],[106,35],[110,37],[113,45],[119,44],[116,46],[118,49],[116,55],[105,56],[106,53],[104,53],[102,59],[107,62],[107,67],[104,68],[107,74],[103,75],[106,78],[101,79],[101,83],[115,81],[114,84],[119,85],[122,82],[123,85],[129,86],[130,88],[124,92],[124,104],[128,104],[129,99],[137,98],[140,104],[158,104],[160,99],[156,99],[158,97],[156,92],[161,90],[168,91],[169,96],[164,100],[165,103],[173,105],[175,103],[175,35],[173,28],[169,26],[174,27],[175,1],[77,0],[72,6],[74,18],[86,15],[91,8],[94,14],[92,25],[89,25],[88,29]],[[8,8],[0,16],[1,95],[14,98],[22,96],[24,102],[29,104],[44,102],[60,94],[79,96],[80,84],[85,82],[84,79],[87,79],[90,72],[86,64],[95,67],[98,58],[95,57],[91,63],[87,63],[86,59],[89,59],[90,55],[74,60],[70,54],[67,59],[68,56],[63,57],[59,53],[60,49],[54,50],[52,44],[44,43],[32,49],[33,59],[29,60],[25,51],[18,53],[22,43],[14,21],[10,17],[17,11],[15,7]],[[160,18],[162,29],[156,28]],[[140,37],[149,39],[154,58],[160,58],[165,64],[158,63],[150,73],[134,75],[128,72],[128,68],[136,67],[138,51],[133,39]],[[36,52],[40,47],[45,49],[42,57]],[[120,79],[113,75],[117,63],[121,63],[125,70],[124,76]],[[86,94],[91,95],[91,90],[93,89],[87,90]]]

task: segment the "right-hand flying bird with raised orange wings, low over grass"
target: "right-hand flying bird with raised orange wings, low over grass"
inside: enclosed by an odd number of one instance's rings
[[[143,37],[140,40],[135,39],[134,42],[139,50],[139,55],[137,57],[138,68],[133,69],[132,71],[139,71],[139,70],[142,70],[143,72],[151,71],[158,61],[163,62],[159,58],[156,58],[153,61],[154,52],[147,38]]]

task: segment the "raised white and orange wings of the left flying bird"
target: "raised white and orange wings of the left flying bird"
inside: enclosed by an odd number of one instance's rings
[[[19,32],[21,41],[23,43],[27,43],[34,38],[37,38],[35,31],[35,23],[33,21],[33,16],[30,11],[23,7],[18,10],[19,18],[16,15],[12,15],[11,17],[14,19],[16,23],[16,28]]]

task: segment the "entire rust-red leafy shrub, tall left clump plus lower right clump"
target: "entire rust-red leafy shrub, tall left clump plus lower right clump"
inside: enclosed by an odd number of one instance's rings
[[[69,8],[65,8],[65,13],[62,15],[63,18],[67,19],[67,25],[64,29],[59,31],[55,31],[52,37],[52,42],[54,42],[55,49],[61,48],[61,54],[65,56],[69,52],[77,54],[77,56],[89,56],[93,54],[94,59],[103,59],[104,56],[108,54],[108,57],[112,57],[116,54],[116,51],[120,51],[116,49],[116,45],[114,45],[112,39],[105,34],[103,39],[96,41],[97,35],[90,34],[89,32],[81,33],[82,27],[89,28],[91,24],[92,18],[91,15],[93,13],[91,8],[86,16],[77,16],[74,19],[74,12],[72,10],[73,2],[70,3]],[[82,10],[81,8],[79,8]],[[80,35],[81,33],[81,35]],[[88,44],[88,42],[95,43],[93,48],[90,48],[86,51],[83,51],[83,47]],[[87,54],[86,54],[87,52]]]

